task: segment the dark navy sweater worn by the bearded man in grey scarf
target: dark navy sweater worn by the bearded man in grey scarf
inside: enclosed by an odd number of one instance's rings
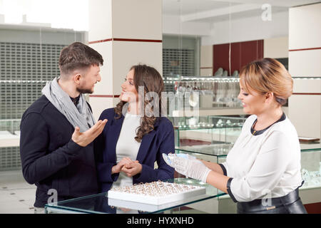
[[[86,147],[73,142],[73,125],[46,96],[25,111],[20,130],[22,172],[37,186],[35,207],[44,207],[51,189],[58,201],[98,192],[93,142]]]

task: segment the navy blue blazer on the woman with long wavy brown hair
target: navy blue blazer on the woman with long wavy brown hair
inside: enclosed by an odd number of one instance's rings
[[[101,192],[107,192],[118,179],[119,174],[111,174],[111,168],[116,165],[116,144],[121,133],[124,116],[115,118],[113,108],[103,110],[99,120],[107,119],[105,128],[95,142],[96,168]],[[174,178],[174,169],[165,163],[163,153],[175,152],[174,128],[168,118],[158,118],[154,130],[144,135],[138,150],[136,160],[141,163],[141,173],[133,176],[133,184],[153,182]],[[154,170],[154,163],[158,168]]]

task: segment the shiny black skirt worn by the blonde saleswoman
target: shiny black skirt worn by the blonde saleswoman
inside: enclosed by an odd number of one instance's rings
[[[238,214],[307,214],[299,197],[299,188],[284,197],[238,202],[237,211]]]

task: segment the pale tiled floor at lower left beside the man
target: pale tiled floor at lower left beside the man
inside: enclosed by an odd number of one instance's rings
[[[34,214],[35,197],[21,170],[0,171],[0,214]]]

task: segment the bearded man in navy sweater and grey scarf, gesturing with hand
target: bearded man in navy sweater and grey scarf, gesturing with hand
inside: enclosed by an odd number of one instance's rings
[[[47,83],[21,118],[22,172],[36,184],[36,213],[47,202],[98,192],[92,142],[107,120],[95,124],[83,93],[93,93],[102,65],[101,54],[83,43],[63,48],[60,77]]]

